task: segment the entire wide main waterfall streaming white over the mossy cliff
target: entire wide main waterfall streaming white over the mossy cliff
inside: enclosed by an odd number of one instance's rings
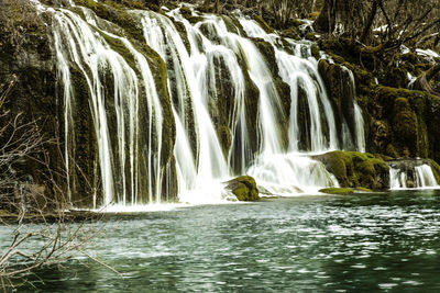
[[[73,80],[79,72],[97,140],[95,181],[105,198],[95,202],[158,203],[173,168],[162,162],[163,125],[168,117],[148,56],[122,37],[120,27],[91,10],[79,7],[75,12],[56,9],[52,13],[67,168],[75,165],[76,109],[85,103],[78,100]],[[310,44],[287,38],[282,45],[279,36],[266,34],[244,18],[227,23],[224,18],[193,11],[198,21],[190,23],[179,9],[167,15],[128,13],[142,29],[144,40],[138,41],[155,50],[167,68],[176,127],[175,160],[170,161],[180,201],[221,200],[221,182],[243,173],[272,194],[317,192],[338,182],[310,155],[349,148],[350,139],[365,150],[362,112],[355,102],[355,137],[346,131],[348,138],[339,138]],[[272,45],[279,72],[271,71],[245,34]],[[278,91],[280,81],[290,89],[290,108]]]

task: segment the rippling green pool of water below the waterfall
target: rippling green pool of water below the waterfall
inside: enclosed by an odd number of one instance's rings
[[[117,216],[88,251],[122,275],[77,259],[20,291],[440,292],[440,191]]]

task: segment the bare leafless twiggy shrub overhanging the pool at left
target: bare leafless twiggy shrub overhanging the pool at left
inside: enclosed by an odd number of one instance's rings
[[[0,110],[16,81],[12,76],[0,84]],[[4,121],[0,127],[0,226],[11,232],[10,244],[0,247],[0,290],[4,292],[32,285],[29,275],[38,268],[61,266],[78,253],[88,256],[85,249],[99,232],[85,225],[91,213],[81,213],[78,222],[78,214],[68,211],[70,202],[56,180],[65,174],[52,168],[45,149],[57,142],[46,138],[35,121],[22,123],[20,113],[8,120],[10,115],[3,111],[0,120]],[[16,167],[30,161],[37,164],[44,184]]]

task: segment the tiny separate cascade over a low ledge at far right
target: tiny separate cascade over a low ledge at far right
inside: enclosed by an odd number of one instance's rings
[[[437,189],[439,184],[428,161],[400,159],[388,162],[391,190]]]

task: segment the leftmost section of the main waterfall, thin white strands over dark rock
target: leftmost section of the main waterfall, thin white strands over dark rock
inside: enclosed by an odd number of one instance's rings
[[[98,27],[95,13],[86,8],[81,11],[87,21],[67,9],[54,11],[58,79],[64,84],[66,166],[69,168],[75,164],[72,151],[77,144],[73,112],[78,101],[73,94],[75,89],[69,66],[73,64],[84,78],[84,86],[90,95],[87,103],[97,139],[102,203],[146,202],[140,199],[140,189],[148,194],[150,202],[160,202],[163,116],[148,64],[128,40]],[[127,49],[134,60],[134,68],[127,57],[112,48],[110,41]],[[141,103],[146,103],[143,110],[147,113],[140,113]],[[144,115],[147,115],[147,125],[140,123]],[[145,134],[142,139],[145,145],[141,143],[141,132]],[[146,154],[141,155],[144,149]],[[145,167],[148,170],[146,180],[140,178],[139,171]]]

